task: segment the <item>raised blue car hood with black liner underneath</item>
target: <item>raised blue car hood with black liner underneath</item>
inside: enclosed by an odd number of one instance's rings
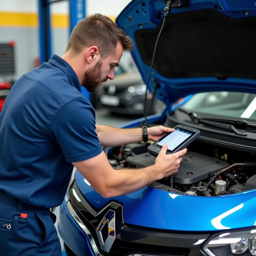
[[[206,91],[256,93],[255,0],[174,0],[156,49],[149,90],[167,105]],[[134,61],[147,80],[164,0],[133,0],[116,19],[134,41]]]

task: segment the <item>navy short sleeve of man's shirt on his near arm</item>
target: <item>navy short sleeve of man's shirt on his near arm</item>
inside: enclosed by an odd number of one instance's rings
[[[51,136],[60,146],[67,162],[78,162],[102,152],[95,129],[94,109],[81,97],[60,110],[52,124]]]

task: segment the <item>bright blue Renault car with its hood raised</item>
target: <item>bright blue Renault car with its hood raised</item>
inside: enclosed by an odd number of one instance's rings
[[[256,2],[133,0],[116,23],[135,42],[145,83],[159,39],[148,89],[158,84],[155,97],[167,107],[148,125],[201,135],[172,186],[164,178],[103,198],[74,169],[58,225],[67,255],[256,255]],[[115,169],[141,168],[155,161],[150,143],[104,152]]]

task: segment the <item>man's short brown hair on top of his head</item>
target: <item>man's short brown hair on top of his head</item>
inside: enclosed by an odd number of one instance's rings
[[[82,19],[74,27],[66,51],[72,50],[73,54],[77,55],[84,47],[95,45],[104,59],[114,51],[118,41],[122,43],[125,52],[133,49],[131,38],[109,17],[93,14]]]

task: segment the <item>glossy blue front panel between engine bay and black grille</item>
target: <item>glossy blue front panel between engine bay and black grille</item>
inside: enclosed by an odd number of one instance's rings
[[[77,172],[77,185],[97,209],[109,201],[123,204],[124,222],[178,231],[216,231],[256,225],[256,190],[221,197],[186,196],[145,187],[113,199],[103,198]],[[243,221],[238,221],[246,216]]]

